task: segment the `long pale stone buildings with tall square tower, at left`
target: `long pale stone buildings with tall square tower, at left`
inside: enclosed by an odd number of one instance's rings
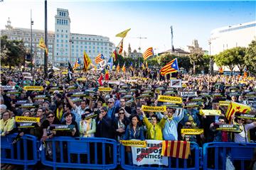
[[[114,43],[110,38],[101,35],[87,35],[70,32],[70,17],[67,9],[57,8],[55,15],[55,31],[48,31],[48,64],[55,67],[66,67],[80,58],[83,61],[85,51],[92,62],[100,53],[105,58],[110,57],[114,51]],[[8,35],[10,40],[23,40],[24,45],[31,49],[31,29],[13,28],[11,21],[7,22],[1,35]],[[44,52],[38,48],[40,38],[44,38],[44,30],[32,29],[32,54],[36,67],[44,64]]]

